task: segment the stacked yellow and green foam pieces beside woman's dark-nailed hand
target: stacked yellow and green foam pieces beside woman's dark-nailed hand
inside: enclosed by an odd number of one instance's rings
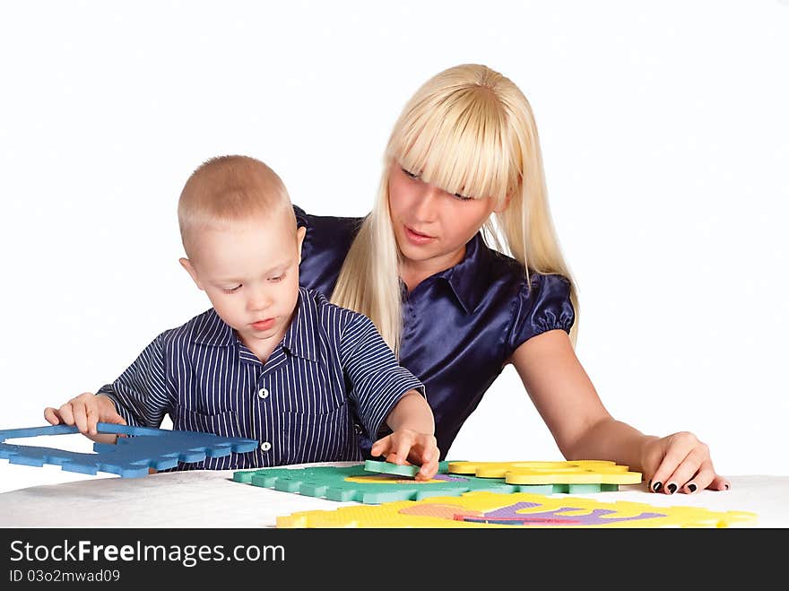
[[[641,473],[608,460],[568,462],[450,462],[450,474],[473,474],[479,478],[504,478],[522,485],[523,492],[617,491],[620,484],[638,484]]]

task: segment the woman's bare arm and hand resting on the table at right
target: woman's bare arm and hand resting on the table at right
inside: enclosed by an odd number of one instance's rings
[[[563,330],[533,336],[510,361],[568,460],[627,465],[644,474],[650,489],[669,494],[729,488],[729,482],[715,474],[707,446],[692,433],[658,438],[611,417]]]

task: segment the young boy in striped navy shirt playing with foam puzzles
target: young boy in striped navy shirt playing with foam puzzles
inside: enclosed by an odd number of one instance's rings
[[[438,472],[433,414],[421,382],[400,366],[368,317],[299,288],[305,229],[277,174],[246,156],[205,162],[178,201],[187,258],[180,264],[212,309],[166,330],[112,384],[59,408],[95,440],[97,422],[258,439],[247,454],[178,469],[230,469],[361,459],[361,423],[373,456]]]

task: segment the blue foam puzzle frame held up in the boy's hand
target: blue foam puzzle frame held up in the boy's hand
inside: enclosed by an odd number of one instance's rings
[[[0,430],[0,459],[10,464],[59,465],[66,472],[97,474],[107,472],[122,478],[149,474],[148,469],[166,470],[178,465],[200,462],[206,457],[246,453],[257,448],[255,439],[227,438],[212,433],[186,430],[131,427],[100,422],[100,433],[116,433],[117,444],[93,443],[93,454],[4,443],[6,439],[78,433],[74,426],[48,425],[24,429]]]

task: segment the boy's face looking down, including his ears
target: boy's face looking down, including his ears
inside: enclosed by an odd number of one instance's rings
[[[251,351],[273,350],[299,300],[306,229],[256,220],[198,231],[192,259],[181,265]]]

